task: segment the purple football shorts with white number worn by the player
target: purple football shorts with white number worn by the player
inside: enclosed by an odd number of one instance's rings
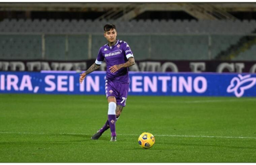
[[[125,106],[126,98],[129,91],[129,83],[119,83],[106,79],[105,92],[106,97],[114,96],[117,100],[117,105]]]

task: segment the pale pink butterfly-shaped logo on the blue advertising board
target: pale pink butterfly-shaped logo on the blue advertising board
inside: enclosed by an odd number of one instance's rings
[[[245,90],[252,88],[255,84],[256,77],[251,77],[250,74],[245,76],[238,74],[238,77],[231,79],[227,92],[234,92],[236,97],[241,97],[244,95]]]

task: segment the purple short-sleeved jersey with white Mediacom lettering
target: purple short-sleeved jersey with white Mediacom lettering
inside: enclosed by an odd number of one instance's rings
[[[121,68],[115,73],[111,73],[109,70],[111,66],[126,63],[129,57],[133,57],[129,45],[124,41],[117,40],[117,43],[114,46],[109,47],[107,44],[105,44],[100,48],[95,63],[100,65],[105,59],[107,64],[106,79],[115,80],[120,83],[130,83],[128,67]]]

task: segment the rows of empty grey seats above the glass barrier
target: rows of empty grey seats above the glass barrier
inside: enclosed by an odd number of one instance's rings
[[[250,33],[256,28],[255,20],[15,20],[4,19],[0,22],[0,32],[43,32],[43,33],[77,33],[102,32],[102,25],[114,23],[118,32],[133,33]]]

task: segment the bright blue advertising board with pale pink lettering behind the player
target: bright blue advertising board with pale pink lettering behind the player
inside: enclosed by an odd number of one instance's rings
[[[0,93],[105,94],[105,71],[0,72]],[[256,74],[129,72],[129,95],[256,96]]]

